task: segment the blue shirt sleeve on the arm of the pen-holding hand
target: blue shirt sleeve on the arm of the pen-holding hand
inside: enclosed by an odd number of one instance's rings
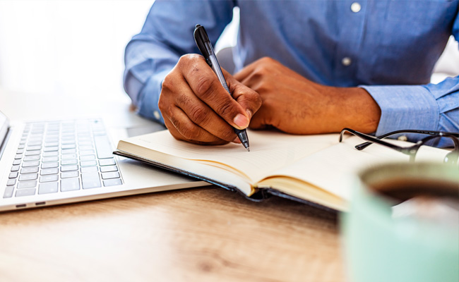
[[[138,114],[164,124],[157,106],[162,81],[180,56],[200,54],[193,38],[195,25],[203,25],[215,44],[232,20],[233,8],[232,1],[155,1],[124,54],[124,90]]]

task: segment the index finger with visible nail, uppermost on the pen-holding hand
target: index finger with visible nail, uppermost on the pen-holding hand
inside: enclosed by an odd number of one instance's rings
[[[196,96],[230,125],[238,129],[246,128],[249,118],[245,109],[220,84],[217,75],[205,63],[203,57],[186,56],[184,60],[189,61],[183,65],[189,65],[182,69],[182,73]]]

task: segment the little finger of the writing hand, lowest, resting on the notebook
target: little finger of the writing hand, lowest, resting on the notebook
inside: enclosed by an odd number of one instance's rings
[[[227,143],[226,140],[222,140],[208,133],[206,130],[196,125],[196,123],[193,123],[193,121],[186,116],[184,111],[177,106],[172,107],[171,115],[165,119],[165,123],[172,135],[179,140],[209,145]]]

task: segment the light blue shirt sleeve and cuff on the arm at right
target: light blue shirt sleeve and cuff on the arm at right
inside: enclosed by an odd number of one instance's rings
[[[459,16],[453,23],[453,35],[459,40]],[[394,130],[423,129],[459,133],[459,76],[446,78],[439,84],[407,86],[360,85],[381,108],[376,135]],[[422,137],[407,135],[416,142]],[[452,146],[442,138],[439,147]]]

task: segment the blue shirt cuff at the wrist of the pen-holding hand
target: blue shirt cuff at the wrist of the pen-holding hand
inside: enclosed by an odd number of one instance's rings
[[[169,70],[161,71],[152,75],[145,86],[143,86],[138,96],[138,114],[145,118],[150,118],[153,121],[164,124],[161,111],[157,105],[160,100],[162,81],[166,77]]]

